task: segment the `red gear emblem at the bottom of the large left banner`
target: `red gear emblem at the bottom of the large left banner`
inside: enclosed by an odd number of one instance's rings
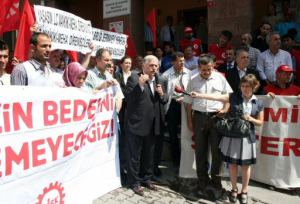
[[[37,204],[64,204],[64,197],[64,187],[62,183],[56,181],[43,189],[43,193],[38,196]]]

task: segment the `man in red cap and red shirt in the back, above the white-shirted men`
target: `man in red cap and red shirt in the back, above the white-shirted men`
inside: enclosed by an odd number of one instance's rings
[[[187,46],[193,47],[194,56],[200,56],[202,51],[202,42],[198,38],[193,37],[193,29],[191,27],[184,28],[184,39],[179,41],[179,47],[182,52]]]

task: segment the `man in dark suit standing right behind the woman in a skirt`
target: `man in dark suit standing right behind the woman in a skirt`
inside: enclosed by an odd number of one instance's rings
[[[229,69],[226,74],[226,79],[230,84],[234,92],[238,92],[240,89],[240,81],[247,74],[254,74],[260,81],[259,72],[254,69],[249,69],[249,53],[246,48],[239,48],[235,52],[236,63],[233,69]],[[255,94],[263,94],[262,88],[259,88]]]

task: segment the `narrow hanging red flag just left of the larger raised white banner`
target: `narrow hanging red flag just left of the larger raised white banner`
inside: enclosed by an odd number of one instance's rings
[[[20,61],[26,61],[29,57],[31,37],[30,27],[34,24],[34,22],[34,11],[32,10],[28,0],[25,0],[14,53],[14,56]]]

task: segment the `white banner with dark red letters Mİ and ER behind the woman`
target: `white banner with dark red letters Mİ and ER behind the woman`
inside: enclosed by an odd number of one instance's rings
[[[256,128],[257,163],[252,165],[251,179],[277,188],[299,188],[299,99],[295,96],[276,96],[274,100],[267,96],[259,98],[264,105],[264,124]],[[179,176],[197,178],[192,133],[186,125],[185,111],[182,113]]]

